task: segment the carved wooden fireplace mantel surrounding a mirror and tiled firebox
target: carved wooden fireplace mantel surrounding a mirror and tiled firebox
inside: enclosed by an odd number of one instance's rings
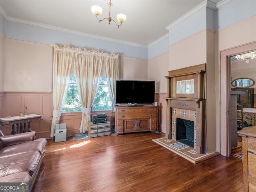
[[[166,100],[166,138],[175,139],[172,136],[172,108],[196,111],[196,152],[207,153],[206,138],[206,64],[190,66],[168,72],[166,76],[167,97]],[[194,79],[194,92],[191,94],[178,93],[177,81]]]

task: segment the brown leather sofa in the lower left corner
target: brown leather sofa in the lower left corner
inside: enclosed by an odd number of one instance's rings
[[[0,136],[0,182],[28,182],[32,190],[44,160],[46,139],[36,132]]]

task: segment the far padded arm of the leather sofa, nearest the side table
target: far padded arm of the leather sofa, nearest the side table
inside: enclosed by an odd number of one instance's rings
[[[0,136],[0,141],[6,147],[10,145],[33,141],[35,140],[35,138],[36,138],[36,132],[31,131],[31,132],[20,133],[16,135]]]

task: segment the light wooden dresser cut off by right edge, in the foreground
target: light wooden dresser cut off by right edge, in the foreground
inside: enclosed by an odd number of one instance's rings
[[[244,192],[256,191],[256,126],[238,131],[243,138]]]

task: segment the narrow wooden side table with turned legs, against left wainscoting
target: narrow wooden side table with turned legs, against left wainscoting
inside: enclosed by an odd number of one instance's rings
[[[5,126],[5,125],[12,125],[12,132],[11,134],[18,134],[18,133],[24,133],[26,132],[26,123],[28,123],[28,131],[31,131],[30,128],[30,122],[32,120],[41,120],[43,119],[42,115],[38,114],[28,114],[24,115],[22,117],[20,116],[13,116],[9,118],[0,118],[0,125]],[[16,124],[17,126],[17,132],[14,130],[14,125]]]

